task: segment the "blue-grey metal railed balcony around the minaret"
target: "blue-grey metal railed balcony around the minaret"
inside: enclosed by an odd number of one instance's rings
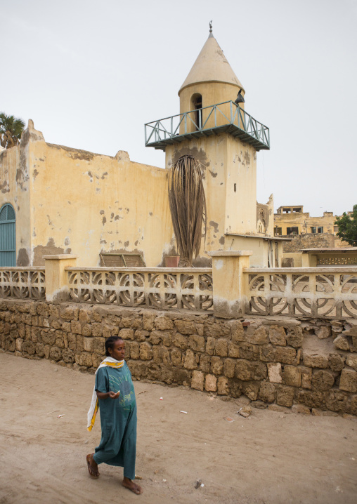
[[[230,133],[256,150],[270,149],[269,128],[232,101],[145,124],[145,145],[165,150],[190,138]]]

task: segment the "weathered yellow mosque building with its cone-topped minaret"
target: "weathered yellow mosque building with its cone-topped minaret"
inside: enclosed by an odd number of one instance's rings
[[[178,93],[184,121],[146,142],[164,150],[166,169],[124,151],[110,157],[49,144],[30,120],[20,145],[0,152],[0,254],[8,246],[1,265],[38,267],[44,255],[72,253],[77,265],[96,266],[100,253],[123,252],[164,265],[177,252],[167,170],[193,154],[207,199],[207,239],[195,265],[209,265],[212,250],[249,249],[252,265],[278,266],[273,197],[257,204],[257,151],[269,148],[268,128],[232,101],[240,89],[244,95],[211,32]]]

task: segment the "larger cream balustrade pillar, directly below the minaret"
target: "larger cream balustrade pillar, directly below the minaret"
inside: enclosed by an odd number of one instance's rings
[[[252,251],[210,251],[212,256],[213,310],[216,317],[242,317],[247,303],[243,268],[249,267]]]

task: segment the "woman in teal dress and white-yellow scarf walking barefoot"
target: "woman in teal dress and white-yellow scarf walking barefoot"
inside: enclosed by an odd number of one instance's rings
[[[119,336],[105,341],[105,359],[96,371],[88,430],[100,411],[102,437],[96,453],[86,456],[89,475],[99,477],[98,464],[124,467],[122,485],[136,494],[142,493],[135,479],[136,399],[131,373],[124,361],[125,343]]]

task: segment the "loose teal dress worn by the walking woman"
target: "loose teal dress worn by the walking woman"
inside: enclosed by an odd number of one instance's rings
[[[97,464],[124,467],[124,477],[135,478],[136,399],[131,373],[122,368],[105,366],[96,374],[98,392],[120,392],[118,399],[99,399],[102,438],[93,458]]]

